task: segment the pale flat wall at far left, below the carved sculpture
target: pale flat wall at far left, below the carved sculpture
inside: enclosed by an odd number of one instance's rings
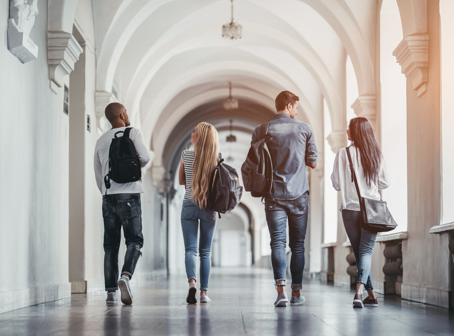
[[[7,49],[9,1],[0,3],[0,312],[70,295],[68,282],[68,115],[63,89],[49,89],[47,1],[31,38],[38,59],[21,64]]]

